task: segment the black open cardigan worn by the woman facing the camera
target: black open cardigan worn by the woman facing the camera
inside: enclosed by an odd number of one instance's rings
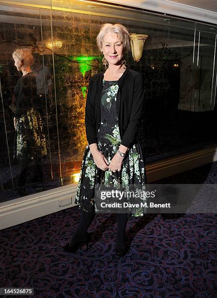
[[[85,126],[88,144],[97,143],[97,133],[101,120],[100,101],[104,72],[90,78],[85,107]],[[140,73],[126,68],[118,80],[117,112],[121,144],[131,148],[138,141],[138,130],[144,103],[144,82]]]

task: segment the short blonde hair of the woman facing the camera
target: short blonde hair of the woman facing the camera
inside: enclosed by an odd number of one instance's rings
[[[123,26],[122,24],[110,24],[110,23],[105,23],[101,26],[99,34],[96,37],[96,42],[98,45],[99,50],[103,53],[103,41],[104,37],[107,33],[111,34],[118,34],[121,38],[121,41],[124,43],[124,53],[127,52],[127,50],[130,49],[130,35],[129,32],[127,31],[127,28]]]

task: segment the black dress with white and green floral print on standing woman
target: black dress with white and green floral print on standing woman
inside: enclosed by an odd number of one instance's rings
[[[107,160],[112,160],[121,144],[121,137],[118,125],[118,114],[116,108],[116,94],[118,91],[117,81],[106,81],[103,79],[101,94],[101,122],[97,134],[97,147],[104,154]],[[78,187],[75,197],[75,204],[79,209],[94,212],[97,211],[94,204],[94,189],[96,184],[105,186],[142,185],[145,190],[146,184],[145,162],[141,144],[137,142],[128,150],[120,172],[111,170],[103,171],[97,168],[89,145],[87,145],[81,165]],[[145,201],[145,200],[144,200]],[[132,208],[130,216],[143,216],[146,208]]]

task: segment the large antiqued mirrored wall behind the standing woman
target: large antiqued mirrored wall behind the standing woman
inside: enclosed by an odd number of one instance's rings
[[[140,137],[146,164],[217,143],[217,27],[82,1],[53,1],[53,7],[0,5],[1,202],[77,181],[87,146],[87,88],[91,75],[104,70],[96,36],[105,22],[148,35],[141,60],[131,52],[126,57],[145,82]],[[35,59],[35,88],[25,102],[36,98],[41,125],[40,131],[24,129],[24,139],[14,123],[17,94],[24,94],[16,91],[22,72],[12,56],[20,48]],[[34,151],[32,138],[43,142],[43,154]],[[37,162],[26,165],[23,158],[20,176],[17,150],[25,140]]]

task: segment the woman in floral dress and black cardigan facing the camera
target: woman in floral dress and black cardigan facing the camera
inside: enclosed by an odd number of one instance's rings
[[[81,209],[81,220],[71,242],[64,246],[76,251],[88,242],[88,227],[95,215],[96,184],[145,186],[143,150],[137,139],[143,101],[143,78],[126,66],[124,54],[130,48],[130,36],[121,24],[103,24],[97,45],[104,54],[106,71],[90,78],[85,125],[88,146],[84,152],[75,203]],[[145,209],[132,210],[131,216],[143,216]],[[130,214],[117,213],[117,256],[126,253],[125,228]]]

